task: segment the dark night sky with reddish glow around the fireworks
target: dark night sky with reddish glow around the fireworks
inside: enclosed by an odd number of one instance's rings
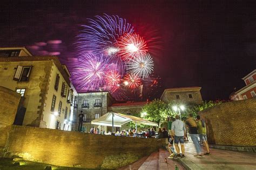
[[[1,1],[0,46],[26,46],[69,65],[86,18],[118,15],[156,40],[154,74],[162,85],[156,97],[164,88],[201,86],[204,100],[228,99],[256,69],[256,2],[235,2]]]

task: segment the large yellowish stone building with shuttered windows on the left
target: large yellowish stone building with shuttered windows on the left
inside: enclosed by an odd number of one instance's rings
[[[24,47],[0,49],[0,86],[21,94],[16,125],[71,130],[74,98],[70,73],[54,56]]]

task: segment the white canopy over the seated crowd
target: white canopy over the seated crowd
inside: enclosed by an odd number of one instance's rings
[[[133,121],[137,124],[143,124],[143,125],[150,125],[150,126],[158,126],[157,123],[153,123],[152,121],[145,120],[142,118],[134,117],[132,115],[126,115],[122,113],[116,113],[116,112],[107,112],[102,117],[99,117],[98,119],[92,120],[91,124],[94,125],[103,125],[103,126],[112,126],[112,114],[113,117],[113,125],[114,127],[121,127],[122,125],[129,123],[130,121]]]

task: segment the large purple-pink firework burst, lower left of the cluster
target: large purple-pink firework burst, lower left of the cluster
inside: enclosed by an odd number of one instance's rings
[[[109,61],[92,53],[79,57],[73,71],[75,83],[82,90],[100,90],[105,86],[105,76],[109,70]]]

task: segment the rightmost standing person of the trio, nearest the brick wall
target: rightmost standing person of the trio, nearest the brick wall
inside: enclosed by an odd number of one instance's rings
[[[207,142],[207,137],[206,137],[206,126],[205,126],[205,121],[200,119],[200,115],[197,115],[197,132],[199,135],[199,138],[201,141],[203,141],[204,146],[206,147],[206,153],[205,155],[210,155],[210,149],[209,145]]]

